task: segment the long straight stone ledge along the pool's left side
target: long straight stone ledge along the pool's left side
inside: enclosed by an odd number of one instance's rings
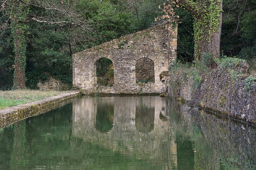
[[[0,128],[22,119],[45,113],[56,107],[64,106],[70,102],[71,98],[77,97],[80,94],[79,91],[74,91],[28,104],[21,104],[19,106],[2,109],[0,110]]]

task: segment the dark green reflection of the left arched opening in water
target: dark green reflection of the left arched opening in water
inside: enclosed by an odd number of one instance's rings
[[[108,104],[99,104],[97,107],[95,128],[106,133],[113,128],[114,106]]]

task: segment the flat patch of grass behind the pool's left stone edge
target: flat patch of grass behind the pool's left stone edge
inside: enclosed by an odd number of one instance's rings
[[[43,100],[68,91],[10,90],[0,91],[0,109]]]

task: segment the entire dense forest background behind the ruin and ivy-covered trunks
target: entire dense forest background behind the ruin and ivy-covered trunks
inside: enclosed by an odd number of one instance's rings
[[[10,0],[10,3],[12,1]],[[27,1],[24,1],[27,2]],[[26,17],[26,87],[36,88],[50,74],[72,84],[72,54],[156,25],[164,0],[31,1]],[[2,6],[3,8],[3,6]],[[27,8],[26,8],[27,9]],[[0,90],[13,87],[12,8],[0,11]],[[178,57],[194,60],[193,17],[182,8]],[[256,69],[256,0],[223,0],[222,56],[246,59]],[[47,73],[47,74],[46,74]]]

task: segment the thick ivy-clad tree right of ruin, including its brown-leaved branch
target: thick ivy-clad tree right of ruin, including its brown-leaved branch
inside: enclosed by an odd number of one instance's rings
[[[182,7],[194,17],[194,60],[202,55],[220,57],[220,33],[222,25],[222,0],[167,0],[164,3],[162,16],[170,22],[175,22],[174,9]]]

